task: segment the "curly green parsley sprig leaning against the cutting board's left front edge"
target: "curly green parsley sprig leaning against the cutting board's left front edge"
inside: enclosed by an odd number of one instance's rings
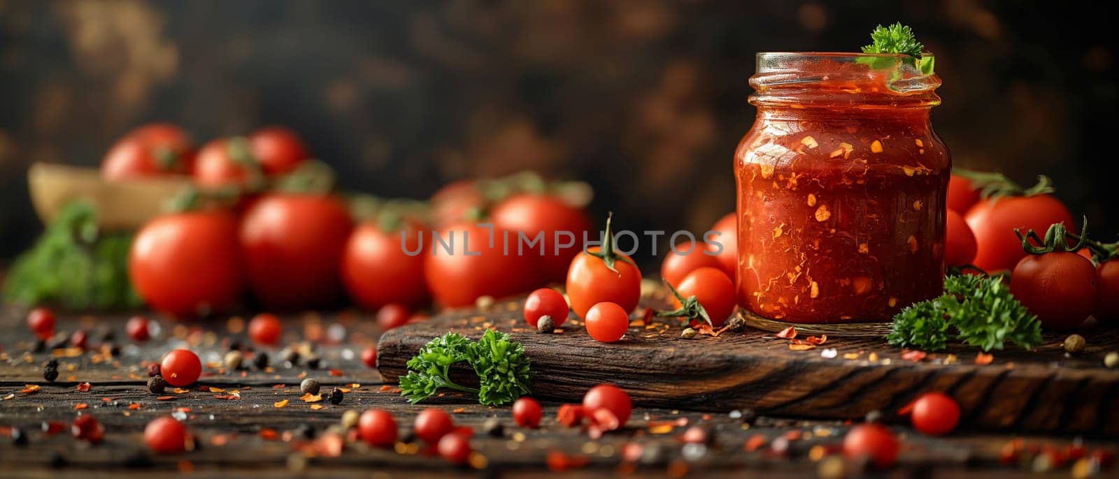
[[[451,366],[469,363],[478,375],[479,386],[469,387],[451,381]],[[408,360],[408,374],[401,376],[401,395],[417,403],[440,389],[477,394],[486,405],[508,404],[528,394],[532,379],[525,346],[509,335],[486,330],[478,342],[458,333],[430,341]]]

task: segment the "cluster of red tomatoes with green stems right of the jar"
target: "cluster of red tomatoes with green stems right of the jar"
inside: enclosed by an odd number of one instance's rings
[[[1052,192],[1044,176],[1023,189],[999,174],[953,173],[946,264],[1009,271],[1010,293],[1045,328],[1073,328],[1091,315],[1119,318],[1116,245],[1091,241],[1084,231],[1074,234],[1072,213]],[[1054,227],[1055,237],[1042,238]]]

